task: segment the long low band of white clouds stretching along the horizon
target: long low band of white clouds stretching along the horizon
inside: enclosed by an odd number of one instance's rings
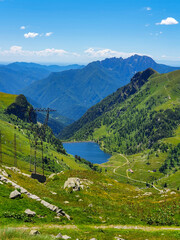
[[[0,48],[0,59],[3,61],[25,61],[25,62],[62,62],[62,63],[88,63],[111,57],[127,58],[139,53],[118,52],[111,49],[95,49],[76,53],[57,48],[45,48],[41,50],[23,49],[22,46],[11,46],[9,49]]]

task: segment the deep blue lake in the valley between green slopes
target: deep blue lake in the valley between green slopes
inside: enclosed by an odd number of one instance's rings
[[[66,152],[72,155],[78,155],[92,163],[105,163],[111,157],[110,154],[103,152],[97,143],[79,142],[63,143]]]

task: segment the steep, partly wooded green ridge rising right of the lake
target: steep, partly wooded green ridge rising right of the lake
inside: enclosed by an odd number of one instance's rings
[[[130,84],[90,108],[60,138],[98,140],[111,152],[135,153],[172,136],[180,120],[180,71],[152,73],[135,74]]]

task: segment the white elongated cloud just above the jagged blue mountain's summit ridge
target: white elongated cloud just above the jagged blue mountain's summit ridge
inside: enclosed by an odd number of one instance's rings
[[[111,49],[95,50],[94,48],[88,48],[87,50],[84,51],[84,53],[90,57],[100,58],[100,59],[101,58],[111,58],[111,57],[127,58],[127,57],[137,54],[137,53],[118,52],[118,51],[114,51]],[[141,54],[138,54],[138,55],[141,55]]]

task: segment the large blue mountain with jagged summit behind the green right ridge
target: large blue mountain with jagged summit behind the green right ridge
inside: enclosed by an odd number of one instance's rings
[[[88,108],[129,83],[136,72],[147,68],[159,73],[180,69],[158,64],[148,56],[108,58],[89,63],[82,69],[52,73],[25,88],[23,94],[77,120]]]

